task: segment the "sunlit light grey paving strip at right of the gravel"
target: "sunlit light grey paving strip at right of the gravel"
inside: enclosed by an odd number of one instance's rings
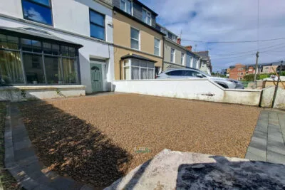
[[[285,164],[285,112],[261,111],[245,158]]]

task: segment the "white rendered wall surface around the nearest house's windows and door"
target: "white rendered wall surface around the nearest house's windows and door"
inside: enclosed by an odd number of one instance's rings
[[[81,84],[86,93],[92,93],[90,80],[90,58],[105,60],[103,90],[111,91],[114,79],[113,19],[107,6],[89,0],[51,0],[53,26],[24,20],[21,0],[0,0],[0,26],[32,27],[47,31],[59,38],[83,45],[79,49]],[[90,38],[89,8],[105,15],[106,41]]]

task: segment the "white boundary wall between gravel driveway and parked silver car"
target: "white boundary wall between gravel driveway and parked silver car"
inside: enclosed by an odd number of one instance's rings
[[[225,90],[208,79],[114,80],[115,92],[259,105],[261,90]]]

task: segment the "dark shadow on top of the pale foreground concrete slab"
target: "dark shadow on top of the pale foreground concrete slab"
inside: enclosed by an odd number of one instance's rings
[[[285,171],[269,162],[229,162],[212,156],[215,163],[181,164],[176,189],[284,189]]]

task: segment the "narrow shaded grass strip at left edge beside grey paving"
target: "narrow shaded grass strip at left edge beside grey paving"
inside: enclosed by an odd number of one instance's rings
[[[4,129],[6,116],[6,102],[0,102],[0,189],[19,189],[17,181],[11,176],[10,172],[4,167],[5,148],[4,148]]]

